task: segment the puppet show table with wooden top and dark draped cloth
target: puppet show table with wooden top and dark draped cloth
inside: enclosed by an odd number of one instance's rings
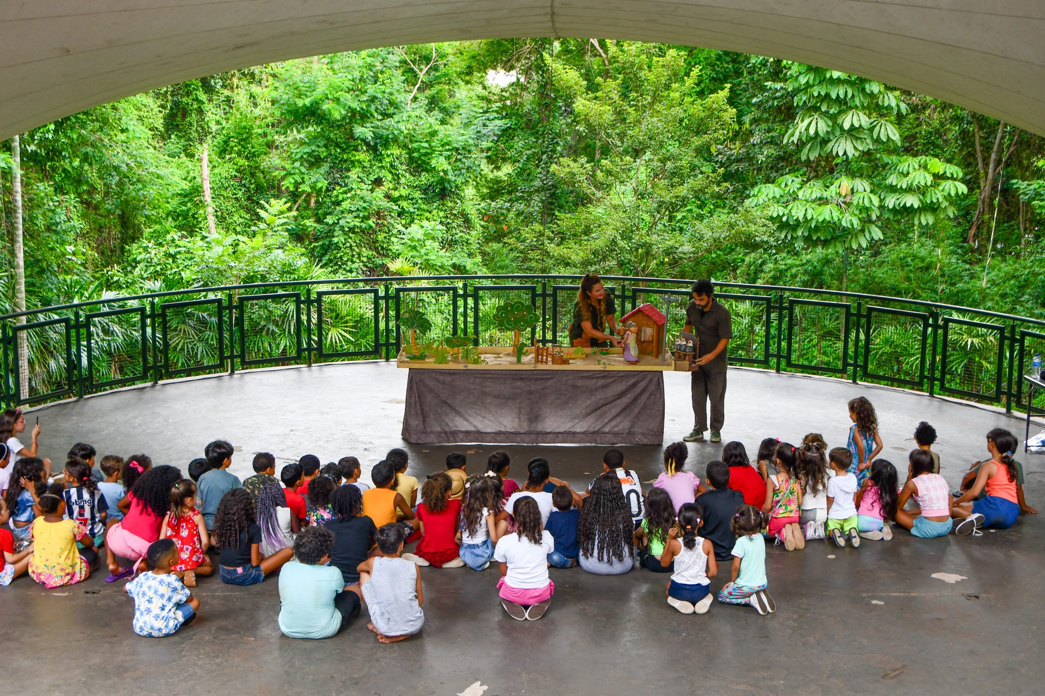
[[[489,445],[663,445],[664,377],[671,363],[620,350],[568,365],[498,362],[507,349],[481,349],[488,364],[409,361],[402,437],[409,442]]]

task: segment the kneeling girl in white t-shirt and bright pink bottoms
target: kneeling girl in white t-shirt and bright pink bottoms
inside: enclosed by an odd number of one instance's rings
[[[555,593],[555,583],[548,575],[548,554],[555,550],[555,542],[552,533],[541,528],[536,500],[519,498],[514,510],[517,531],[502,536],[493,550],[501,569],[497,594],[512,619],[536,621],[544,616]]]

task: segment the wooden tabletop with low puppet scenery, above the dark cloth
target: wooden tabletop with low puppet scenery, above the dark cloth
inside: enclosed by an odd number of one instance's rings
[[[616,370],[616,371],[647,371],[647,373],[670,373],[675,371],[674,363],[669,358],[667,362],[661,362],[659,358],[644,355],[640,356],[637,363],[627,363],[624,361],[622,349],[585,349],[583,358],[571,357],[573,347],[564,347],[563,353],[570,357],[568,365],[553,365],[551,363],[535,363],[534,356],[527,347],[527,354],[522,356],[522,362],[515,362],[515,350],[509,346],[480,345],[479,354],[488,361],[487,364],[468,364],[464,360],[449,360],[443,364],[436,364],[429,357],[426,360],[408,360],[405,351],[399,353],[396,360],[397,367],[408,367],[411,369],[503,369],[503,370]]]

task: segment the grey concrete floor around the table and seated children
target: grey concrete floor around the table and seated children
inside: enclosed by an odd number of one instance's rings
[[[262,450],[280,465],[306,453],[324,462],[355,455],[364,478],[392,447],[411,452],[415,475],[441,470],[455,449],[468,453],[469,470],[482,470],[495,448],[402,442],[405,378],[392,364],[365,363],[127,389],[38,409],[41,451],[59,462],[70,445],[86,440],[99,454],[144,451],[184,471],[220,437],[236,446],[232,471],[241,477]],[[665,379],[667,443],[690,430],[692,412],[688,378],[667,373]],[[899,390],[738,368],[729,374],[723,437],[742,440],[752,456],[762,437],[798,441],[810,431],[843,446],[845,403],[858,394],[878,411],[882,456],[901,470],[921,419],[939,433],[942,473],[952,484],[969,462],[986,457],[988,430],[1007,428],[1022,448],[1018,417]],[[505,449],[515,478],[540,453],[553,475],[581,485],[600,470],[605,448]],[[623,449],[644,481],[660,471],[661,448]],[[693,443],[687,467],[702,477],[720,452],[719,445]],[[1045,457],[1018,458],[1028,502],[1045,508]],[[59,691],[72,678],[86,694],[460,694],[475,682],[488,688],[486,696],[651,689],[1041,693],[1045,664],[1034,645],[1045,607],[1042,533],[1041,517],[1022,515],[1013,529],[978,538],[918,539],[900,531],[892,542],[865,541],[859,550],[821,542],[793,553],[769,549],[779,609],[767,617],[718,603],[702,617],[679,615],[665,603],[667,578],[645,570],[599,577],[553,569],[551,609],[538,622],[520,623],[496,604],[495,570],[424,569],[424,630],[391,646],[374,640],[365,619],[325,641],[282,637],[275,577],[254,587],[202,579],[194,591],[200,619],[164,640],[132,632],[132,601],[122,583],[102,582],[104,572],[54,591],[21,577],[0,589],[0,664],[34,691]],[[713,590],[728,578],[720,572]]]

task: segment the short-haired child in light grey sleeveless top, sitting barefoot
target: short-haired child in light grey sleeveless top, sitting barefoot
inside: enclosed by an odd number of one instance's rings
[[[393,491],[394,493],[394,491]],[[370,623],[381,643],[404,641],[424,625],[421,569],[399,557],[407,538],[401,524],[377,530],[377,555],[359,563],[359,583]]]

